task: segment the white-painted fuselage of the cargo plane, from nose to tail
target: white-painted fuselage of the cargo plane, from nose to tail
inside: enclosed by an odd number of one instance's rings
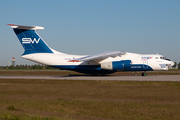
[[[131,60],[133,71],[144,69],[144,65],[148,65],[152,70],[168,70],[173,64],[172,61],[161,59],[162,55],[156,54],[135,54],[126,53],[122,56],[108,57],[101,61],[84,61],[84,62],[69,62],[70,60],[84,57],[86,55],[69,55],[64,53],[34,53],[23,55],[22,58],[48,65],[48,66],[79,66],[79,65],[100,65],[112,61]],[[146,69],[146,68],[145,68]],[[144,70],[143,70],[144,71]]]

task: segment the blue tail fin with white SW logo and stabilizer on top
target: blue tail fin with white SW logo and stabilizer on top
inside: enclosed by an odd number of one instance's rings
[[[25,52],[23,55],[32,53],[53,53],[52,49],[38,35],[36,30],[42,30],[43,27],[38,26],[22,26],[8,24],[13,28]]]

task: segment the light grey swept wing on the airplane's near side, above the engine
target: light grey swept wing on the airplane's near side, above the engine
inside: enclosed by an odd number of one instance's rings
[[[82,58],[77,58],[77,59],[73,59],[70,60],[69,62],[82,62],[82,61],[91,61],[91,60],[103,60],[106,59],[108,57],[116,57],[116,56],[121,56],[126,54],[125,52],[121,52],[121,51],[111,51],[111,52],[104,52],[104,53],[100,53],[100,54],[95,54],[95,55],[89,55],[89,56],[85,56]]]

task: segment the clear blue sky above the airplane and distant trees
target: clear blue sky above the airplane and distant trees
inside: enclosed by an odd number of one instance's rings
[[[6,24],[36,25],[53,49],[76,55],[106,51],[161,54],[180,62],[179,0],[2,0],[0,66],[36,64]]]

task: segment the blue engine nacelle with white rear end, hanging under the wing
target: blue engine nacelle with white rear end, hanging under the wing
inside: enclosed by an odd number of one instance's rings
[[[101,64],[101,69],[104,70],[123,70],[131,68],[131,60],[111,61]]]

